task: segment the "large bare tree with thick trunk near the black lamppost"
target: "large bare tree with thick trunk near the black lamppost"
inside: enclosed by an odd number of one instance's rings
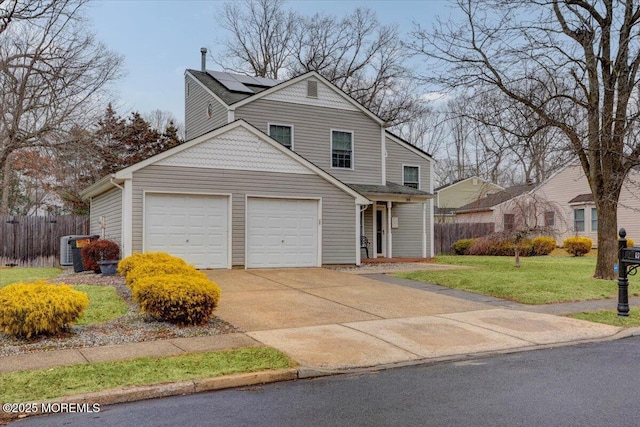
[[[598,210],[594,276],[614,278],[617,204],[640,141],[640,4],[634,0],[458,0],[464,22],[417,28],[415,51],[440,59],[427,80],[497,89],[564,134]]]

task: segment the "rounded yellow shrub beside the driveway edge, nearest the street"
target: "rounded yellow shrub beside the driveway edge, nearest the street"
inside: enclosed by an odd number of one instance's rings
[[[179,325],[201,325],[218,305],[220,288],[206,276],[195,274],[146,276],[136,281],[133,298],[153,317]]]

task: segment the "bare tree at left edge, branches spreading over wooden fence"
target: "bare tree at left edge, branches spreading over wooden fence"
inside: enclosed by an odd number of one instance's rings
[[[28,25],[0,34],[0,213],[8,210],[9,156],[50,148],[73,124],[86,123],[119,76],[122,59],[86,31],[84,4],[52,2]]]

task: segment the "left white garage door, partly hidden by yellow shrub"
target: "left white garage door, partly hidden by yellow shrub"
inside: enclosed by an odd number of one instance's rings
[[[144,249],[183,258],[198,268],[228,267],[228,198],[145,195]]]

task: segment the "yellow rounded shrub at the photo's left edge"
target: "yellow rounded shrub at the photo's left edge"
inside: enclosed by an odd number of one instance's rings
[[[0,328],[19,338],[55,335],[88,306],[89,297],[69,285],[16,283],[0,289]]]

